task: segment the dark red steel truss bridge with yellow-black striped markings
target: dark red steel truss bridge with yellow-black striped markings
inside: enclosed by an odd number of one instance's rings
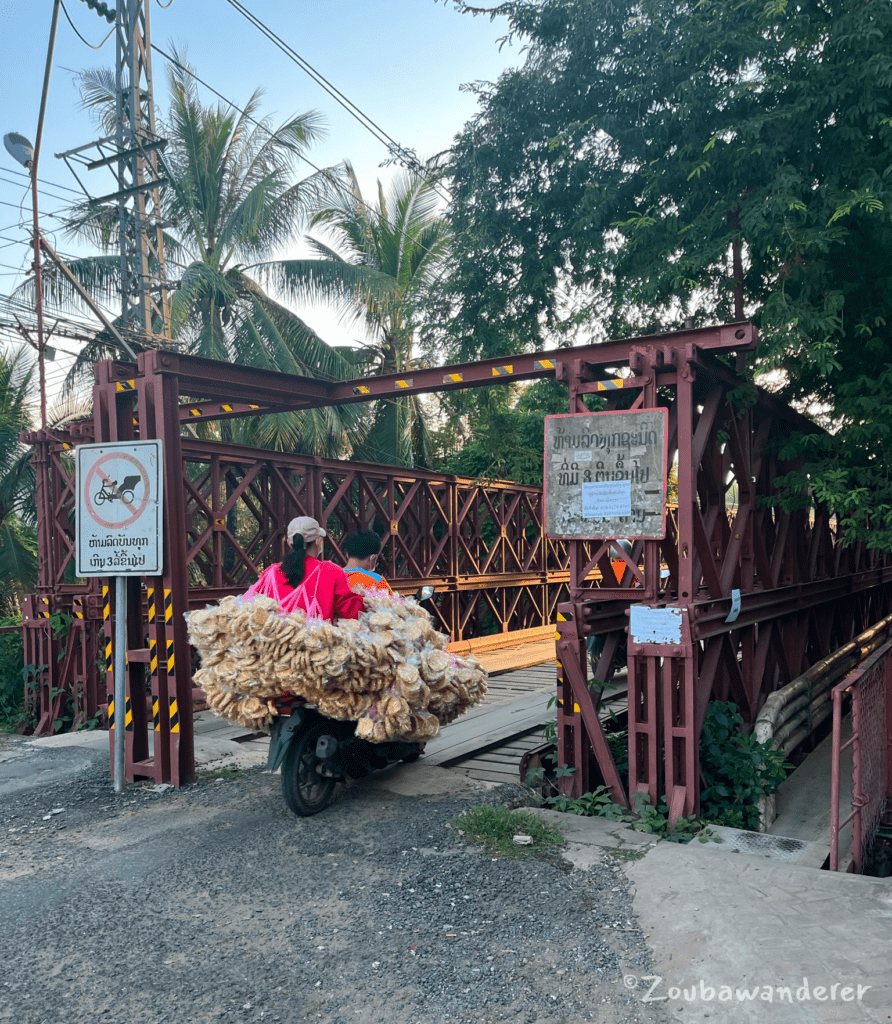
[[[767,503],[773,481],[796,468],[780,442],[818,428],[765,392],[745,389],[740,400],[745,381],[732,368],[755,345],[744,323],[334,382],[166,350],[98,364],[92,420],[27,436],[39,509],[40,578],[24,627],[37,731],[53,731],[68,701],[76,724],[89,720],[113,691],[113,595],[74,577],[73,449],[161,438],[165,570],[128,582],[128,604],[142,613],[129,616],[126,708],[110,723],[114,732],[123,719],[128,778],[193,778],[183,615],[245,590],[281,558],[289,519],[304,514],[327,525],[336,555],[351,528],[382,532],[387,578],[402,592],[432,582],[441,628],[456,639],[556,620],[558,753],[576,769],[566,791],[603,780],[620,802],[640,792],[665,796],[676,816],[695,813],[709,700],[733,699],[753,721],[770,692],[892,610],[892,559],[845,546],[825,509]],[[186,429],[549,376],[567,384],[569,412],[588,412],[590,395],[606,411],[668,411],[678,508],[663,540],[635,542],[620,582],[608,539],[546,536],[539,488],[274,453]],[[740,607],[729,622],[732,590]],[[627,793],[598,720],[586,641],[607,635],[595,673],[603,682],[632,604],[680,609],[682,630],[677,644],[629,645]]]

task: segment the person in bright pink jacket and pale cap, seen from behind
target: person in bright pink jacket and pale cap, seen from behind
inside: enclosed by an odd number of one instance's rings
[[[334,562],[320,560],[326,531],[310,516],[288,524],[291,551],[278,565],[265,569],[245,595],[262,594],[279,601],[285,611],[300,608],[308,618],[358,618],[365,609],[362,594],[350,589],[347,574]]]

